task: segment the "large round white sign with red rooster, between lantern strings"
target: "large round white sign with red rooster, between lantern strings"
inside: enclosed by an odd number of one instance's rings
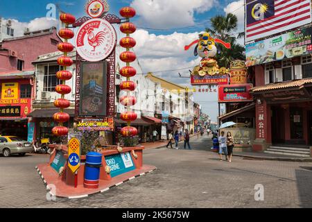
[[[91,19],[80,26],[76,35],[76,49],[79,55],[89,61],[105,60],[116,46],[114,27],[104,19]]]

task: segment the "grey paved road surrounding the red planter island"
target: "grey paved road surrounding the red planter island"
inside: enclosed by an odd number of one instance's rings
[[[35,165],[44,155],[0,157],[0,207],[312,207],[312,164],[243,160],[219,162],[207,152],[211,139],[193,138],[188,150],[144,152],[157,171],[103,194],[47,201]],[[254,186],[264,201],[254,200]]]

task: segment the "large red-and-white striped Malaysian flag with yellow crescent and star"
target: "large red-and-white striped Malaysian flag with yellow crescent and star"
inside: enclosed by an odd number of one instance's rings
[[[245,0],[245,41],[312,22],[311,0]]]

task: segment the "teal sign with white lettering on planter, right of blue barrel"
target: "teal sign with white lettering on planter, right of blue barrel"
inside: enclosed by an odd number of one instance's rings
[[[133,163],[130,152],[106,156],[105,161],[107,166],[110,167],[110,176],[112,178],[135,170],[135,164]]]

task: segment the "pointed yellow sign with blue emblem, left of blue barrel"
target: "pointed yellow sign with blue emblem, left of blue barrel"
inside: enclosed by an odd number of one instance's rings
[[[80,140],[72,138],[68,143],[68,167],[76,173],[80,167]]]

